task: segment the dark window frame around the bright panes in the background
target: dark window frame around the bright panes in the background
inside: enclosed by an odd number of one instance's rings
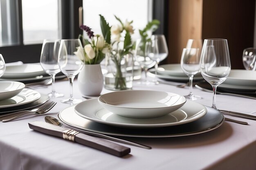
[[[14,0],[16,1],[16,0]],[[23,44],[22,31],[22,0],[18,0],[16,6],[18,40],[19,44],[0,47],[6,63],[22,61],[23,63],[35,63],[40,61],[42,43]],[[153,18],[161,22],[156,33],[166,32],[166,5],[168,0],[153,0]],[[77,38],[83,31],[79,28],[79,7],[83,7],[83,0],[61,0],[61,39]],[[164,10],[163,10],[164,9]]]

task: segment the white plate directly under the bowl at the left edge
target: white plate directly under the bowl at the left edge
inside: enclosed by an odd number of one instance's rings
[[[8,108],[13,106],[19,106],[38,100],[41,97],[37,91],[23,88],[23,90],[16,96],[0,101],[0,108]]]

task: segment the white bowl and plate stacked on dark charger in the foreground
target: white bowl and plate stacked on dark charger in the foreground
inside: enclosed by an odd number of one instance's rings
[[[116,91],[58,113],[78,130],[129,137],[194,135],[218,128],[224,116],[213,108],[162,91]]]

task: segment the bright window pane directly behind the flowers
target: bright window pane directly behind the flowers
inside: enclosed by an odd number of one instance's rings
[[[99,14],[110,25],[118,24],[116,15],[123,22],[133,20],[132,26],[136,30],[132,37],[137,38],[138,29],[143,29],[152,19],[150,3],[150,0],[83,0],[83,24],[92,28],[94,33],[101,34]]]

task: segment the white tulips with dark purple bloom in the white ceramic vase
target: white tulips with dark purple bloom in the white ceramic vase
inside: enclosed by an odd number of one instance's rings
[[[103,16],[100,15],[100,20],[102,22],[106,22]],[[91,31],[90,27],[81,25],[80,29],[86,31],[88,38],[85,39],[83,35],[79,35],[79,39],[81,40],[83,48],[78,48],[76,55],[78,55],[81,59],[83,59],[83,55],[85,56],[85,64],[99,64],[104,58],[106,53],[110,50],[110,41],[106,41],[103,35],[94,35],[94,32]],[[103,29],[110,29],[105,28]],[[106,32],[106,30],[101,30],[102,32]],[[83,53],[83,54],[82,54]]]

